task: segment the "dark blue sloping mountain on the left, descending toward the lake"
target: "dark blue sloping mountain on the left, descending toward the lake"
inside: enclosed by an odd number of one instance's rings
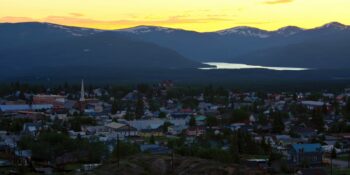
[[[174,50],[115,32],[55,24],[1,24],[0,41],[0,72],[5,74],[128,72],[201,66]]]

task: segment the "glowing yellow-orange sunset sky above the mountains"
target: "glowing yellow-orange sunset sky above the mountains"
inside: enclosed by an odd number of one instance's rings
[[[0,22],[50,22],[98,29],[138,25],[199,32],[236,26],[350,24],[350,0],[0,0]]]

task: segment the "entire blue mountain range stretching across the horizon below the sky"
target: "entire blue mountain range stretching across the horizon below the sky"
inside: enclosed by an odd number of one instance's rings
[[[202,62],[348,69],[349,42],[350,27],[337,22],[313,29],[287,26],[266,31],[244,26],[203,33],[158,26],[97,30],[0,23],[0,73],[3,77],[140,72],[142,76],[157,70],[179,74],[203,67]]]

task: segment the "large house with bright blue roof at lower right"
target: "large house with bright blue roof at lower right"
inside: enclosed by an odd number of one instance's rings
[[[321,144],[293,144],[289,150],[290,161],[296,166],[322,164]]]

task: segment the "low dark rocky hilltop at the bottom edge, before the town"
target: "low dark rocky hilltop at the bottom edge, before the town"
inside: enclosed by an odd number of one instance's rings
[[[171,156],[138,155],[122,161],[121,168],[117,163],[110,163],[102,166],[94,173],[101,175],[141,175],[141,174],[264,174],[264,172],[245,168],[234,164],[223,164],[215,161],[199,159],[194,157],[174,157],[174,167],[171,166]]]

